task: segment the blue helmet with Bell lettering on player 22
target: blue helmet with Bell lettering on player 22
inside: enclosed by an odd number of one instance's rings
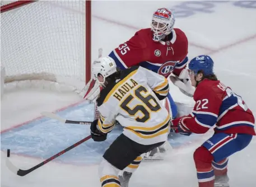
[[[195,75],[200,70],[203,71],[205,76],[213,74],[213,60],[208,55],[199,55],[190,60],[188,69],[189,72],[193,72]]]

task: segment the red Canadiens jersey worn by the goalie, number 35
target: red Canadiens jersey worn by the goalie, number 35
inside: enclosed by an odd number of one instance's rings
[[[188,40],[180,29],[171,32],[170,41],[155,42],[151,29],[142,29],[109,56],[121,69],[142,66],[168,77],[171,72],[179,76],[188,62]]]

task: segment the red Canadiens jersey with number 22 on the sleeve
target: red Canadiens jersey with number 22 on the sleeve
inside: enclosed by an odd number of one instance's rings
[[[255,135],[255,119],[241,96],[220,81],[203,80],[194,92],[196,105],[183,124],[193,133],[205,133],[215,127],[215,133]],[[215,126],[216,125],[216,126]]]

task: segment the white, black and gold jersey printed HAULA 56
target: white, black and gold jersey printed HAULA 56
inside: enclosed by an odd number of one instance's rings
[[[123,134],[139,144],[165,142],[170,115],[159,98],[168,92],[165,77],[139,66],[125,69],[120,80],[101,90],[97,99],[99,130],[109,133],[118,120]]]

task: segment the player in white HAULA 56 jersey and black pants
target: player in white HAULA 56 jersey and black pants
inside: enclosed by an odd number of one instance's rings
[[[100,182],[102,186],[128,186],[141,155],[167,141],[170,115],[160,100],[167,96],[169,84],[165,77],[143,67],[118,71],[111,57],[92,64],[92,77],[104,87],[97,98],[100,118],[91,125],[92,139],[105,141],[116,120],[124,127],[103,155]],[[125,174],[118,177],[124,169]]]

